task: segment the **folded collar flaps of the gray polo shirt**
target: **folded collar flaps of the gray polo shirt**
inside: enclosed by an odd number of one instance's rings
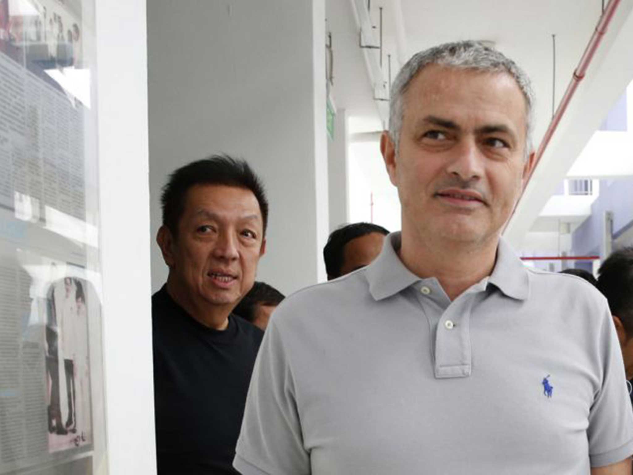
[[[375,300],[396,295],[422,280],[404,267],[397,253],[400,245],[400,232],[392,232],[385,239],[378,257],[365,268],[369,291]],[[529,296],[527,269],[503,238],[499,238],[496,263],[488,283],[517,300],[525,300]]]

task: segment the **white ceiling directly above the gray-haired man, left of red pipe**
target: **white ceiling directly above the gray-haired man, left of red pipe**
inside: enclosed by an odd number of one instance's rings
[[[527,72],[537,98],[536,143],[551,118],[552,35],[556,35],[558,100],[602,13],[601,0],[401,0],[401,4],[407,56],[442,42],[487,40]]]

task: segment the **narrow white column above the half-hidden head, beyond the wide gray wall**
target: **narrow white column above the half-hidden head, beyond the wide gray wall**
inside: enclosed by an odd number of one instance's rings
[[[349,222],[347,111],[339,109],[334,117],[334,140],[327,147],[330,194],[330,232]]]

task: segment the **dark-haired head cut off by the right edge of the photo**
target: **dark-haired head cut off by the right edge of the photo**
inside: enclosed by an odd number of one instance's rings
[[[598,270],[598,289],[606,297],[618,333],[627,379],[633,377],[633,246],[613,252]]]

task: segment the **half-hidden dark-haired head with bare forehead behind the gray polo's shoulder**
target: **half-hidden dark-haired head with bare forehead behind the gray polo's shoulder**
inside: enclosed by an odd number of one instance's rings
[[[343,225],[332,232],[323,248],[327,280],[370,264],[380,254],[387,234],[384,227],[365,222]]]

